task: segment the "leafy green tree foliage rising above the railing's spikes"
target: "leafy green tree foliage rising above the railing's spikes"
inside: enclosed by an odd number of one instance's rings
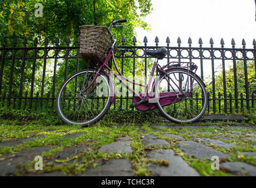
[[[75,43],[80,25],[107,25],[117,19],[128,19],[125,33],[121,28],[113,32],[115,38],[121,41],[125,34],[132,39],[134,28],[139,26],[148,29],[149,26],[142,18],[151,12],[151,0],[1,0],[0,4],[0,44],[10,46],[14,36],[21,42],[24,36],[32,41],[35,36],[39,39],[48,36],[49,42],[54,43],[57,36],[65,44],[70,36]],[[42,17],[36,17],[35,4],[43,5]],[[139,12],[139,13],[138,13]],[[132,41],[128,41],[131,43]]]

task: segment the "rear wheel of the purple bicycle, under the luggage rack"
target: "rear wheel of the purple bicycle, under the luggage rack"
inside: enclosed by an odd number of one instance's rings
[[[155,96],[157,97],[161,92],[179,92],[177,86],[184,92],[187,92],[187,78],[189,83],[194,78],[193,72],[189,71],[188,77],[187,70],[179,68],[167,70],[167,74],[174,82],[167,75],[161,75],[159,82],[155,86]],[[171,105],[161,106],[159,102],[156,105],[158,110],[168,120],[177,123],[194,122],[204,114],[207,108],[207,100],[207,90],[205,89],[204,82],[202,82],[198,75],[195,75],[190,96],[179,96],[179,98],[175,98],[174,103]]]

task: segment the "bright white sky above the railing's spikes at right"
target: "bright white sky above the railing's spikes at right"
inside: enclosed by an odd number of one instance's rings
[[[136,29],[137,41],[142,44],[147,36],[148,45],[155,45],[155,36],[158,36],[159,45],[165,46],[169,36],[170,46],[177,46],[179,36],[181,46],[188,46],[190,36],[192,46],[198,46],[201,37],[203,46],[210,47],[212,37],[215,47],[220,46],[221,38],[226,47],[231,47],[234,38],[239,48],[244,38],[247,48],[253,48],[254,0],[152,0],[152,7],[153,11],[145,18],[152,30]]]

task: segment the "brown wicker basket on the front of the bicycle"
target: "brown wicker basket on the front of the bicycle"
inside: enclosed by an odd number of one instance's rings
[[[107,26],[82,25],[80,29],[80,54],[89,66],[102,65],[114,39]],[[115,51],[115,48],[114,48]]]

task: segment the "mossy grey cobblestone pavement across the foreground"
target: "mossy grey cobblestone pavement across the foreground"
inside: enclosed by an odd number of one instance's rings
[[[2,140],[1,176],[256,176],[254,126],[141,126],[104,144],[86,130],[60,135],[61,145],[51,134]]]

